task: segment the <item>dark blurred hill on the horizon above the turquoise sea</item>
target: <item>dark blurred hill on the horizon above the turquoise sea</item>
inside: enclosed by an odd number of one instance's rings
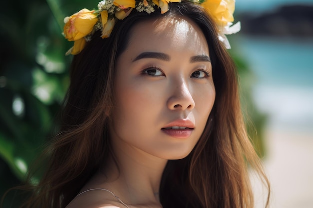
[[[245,12],[236,19],[248,35],[313,38],[313,6],[288,5],[257,15]]]

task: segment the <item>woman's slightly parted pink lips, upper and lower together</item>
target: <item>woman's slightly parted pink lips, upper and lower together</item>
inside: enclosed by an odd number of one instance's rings
[[[186,129],[166,129],[166,128],[172,127],[172,126],[187,127],[187,128]],[[175,121],[167,124],[161,130],[165,134],[167,134],[171,137],[183,139],[183,138],[188,138],[192,134],[194,127],[195,126],[194,126],[192,121],[185,120],[185,119],[179,119],[179,120],[175,120]]]

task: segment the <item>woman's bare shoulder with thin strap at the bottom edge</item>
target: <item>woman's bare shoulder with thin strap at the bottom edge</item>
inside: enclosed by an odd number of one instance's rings
[[[118,202],[116,198],[101,192],[101,190],[94,190],[85,192],[74,198],[66,208],[126,208],[123,204]]]

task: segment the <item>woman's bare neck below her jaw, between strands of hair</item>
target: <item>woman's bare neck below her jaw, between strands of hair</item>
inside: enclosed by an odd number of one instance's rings
[[[150,155],[125,143],[113,144],[106,185],[119,192],[129,204],[159,205],[159,187],[167,160]]]

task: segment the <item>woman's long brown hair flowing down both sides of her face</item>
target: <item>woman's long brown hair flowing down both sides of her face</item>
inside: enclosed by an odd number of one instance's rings
[[[190,2],[170,3],[160,14],[136,12],[118,21],[108,39],[96,32],[71,65],[71,83],[61,112],[61,126],[46,151],[49,157],[40,183],[31,187],[27,208],[64,208],[111,152],[108,123],[114,106],[114,68],[126,49],[131,28],[147,19],[184,16],[204,33],[210,51],[216,99],[205,130],[192,152],[171,160],[164,170],[160,200],[164,208],[252,208],[247,173],[250,164],[268,180],[246,134],[237,73],[218,40],[214,22]],[[156,8],[157,9],[157,8]]]

